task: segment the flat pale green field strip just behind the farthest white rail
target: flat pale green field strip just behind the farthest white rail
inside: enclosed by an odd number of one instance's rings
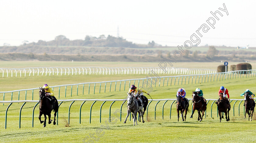
[[[221,62],[191,62],[172,63],[173,67],[198,68],[217,70],[217,66],[223,65]],[[0,68],[27,68],[27,67],[159,67],[159,62],[56,62],[56,61],[1,61]],[[238,62],[229,62],[236,65]],[[256,69],[256,62],[251,62],[252,69]],[[171,67],[167,64],[167,67]]]

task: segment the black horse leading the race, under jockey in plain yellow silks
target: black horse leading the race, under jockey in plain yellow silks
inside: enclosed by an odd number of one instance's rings
[[[56,117],[56,113],[58,112],[58,101],[56,100],[55,97],[54,100],[55,100],[55,103],[54,104],[51,104],[51,101],[45,96],[45,91],[44,89],[40,88],[39,90],[39,97],[40,97],[40,105],[39,105],[39,120],[40,120],[40,123],[42,124],[44,122],[44,125],[43,127],[46,126],[46,115],[48,115],[48,118],[49,118],[49,121],[48,121],[48,124],[51,124],[52,123],[52,120],[51,120],[51,112],[52,110],[55,112],[54,113],[54,121],[53,121],[53,124],[55,125],[56,122],[55,122],[55,117]],[[44,114],[44,121],[41,121],[41,116]]]

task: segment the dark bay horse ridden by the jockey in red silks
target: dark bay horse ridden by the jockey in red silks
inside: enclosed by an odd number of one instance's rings
[[[223,93],[219,94],[219,103],[217,105],[218,112],[219,112],[219,122],[221,122],[221,118],[224,118],[221,114],[221,112],[224,112],[226,115],[226,121],[229,121],[229,110],[230,110],[230,104],[227,104],[226,101],[224,101]],[[227,117],[228,114],[228,117]]]

